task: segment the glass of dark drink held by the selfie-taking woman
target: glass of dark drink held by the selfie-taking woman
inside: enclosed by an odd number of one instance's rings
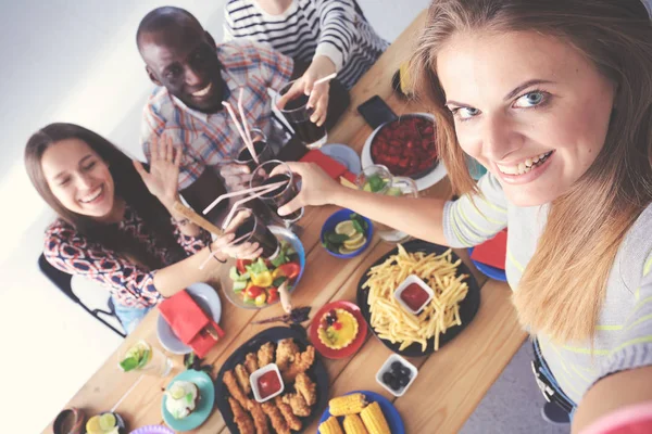
[[[271,176],[272,171],[278,166],[285,166],[284,170],[281,170],[279,174]],[[296,178],[285,163],[277,159],[272,159],[261,164],[253,171],[250,184],[253,188],[259,186],[272,186],[277,182],[284,183],[267,193],[261,194],[261,200],[265,205],[267,205],[269,210],[272,210],[274,215],[286,222],[286,225],[293,224],[303,216],[303,208],[297,209],[287,216],[278,215],[278,208],[290,202],[297,196],[297,194],[299,194]]]

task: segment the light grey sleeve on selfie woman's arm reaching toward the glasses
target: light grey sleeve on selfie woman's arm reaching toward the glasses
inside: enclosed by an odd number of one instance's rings
[[[478,181],[481,194],[465,194],[447,202],[443,233],[451,247],[471,247],[492,239],[507,227],[507,201],[491,174]]]

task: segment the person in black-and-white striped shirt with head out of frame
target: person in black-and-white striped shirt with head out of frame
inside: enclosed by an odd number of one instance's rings
[[[309,64],[281,98],[283,107],[304,92],[315,107],[311,120],[328,104],[328,85],[314,82],[337,73],[351,89],[385,52],[388,42],[366,21],[355,0],[229,0],[224,7],[224,40],[247,38],[265,42],[294,61]]]

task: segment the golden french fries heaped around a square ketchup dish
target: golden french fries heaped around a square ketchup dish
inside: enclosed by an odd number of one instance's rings
[[[428,340],[435,337],[435,350],[439,349],[439,336],[448,328],[461,326],[460,302],[466,297],[467,275],[455,276],[461,259],[452,263],[451,250],[441,255],[423,252],[408,253],[399,244],[399,253],[385,263],[372,267],[363,289],[368,289],[371,324],[380,339],[400,343],[403,350],[413,343],[425,352]],[[435,297],[418,315],[405,311],[393,296],[394,290],[410,275],[418,276],[435,292]]]

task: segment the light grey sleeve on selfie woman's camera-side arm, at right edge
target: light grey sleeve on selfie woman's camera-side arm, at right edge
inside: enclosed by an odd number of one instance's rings
[[[618,342],[602,363],[598,378],[645,366],[652,366],[652,254],[643,263],[642,280],[635,289],[634,304]]]

